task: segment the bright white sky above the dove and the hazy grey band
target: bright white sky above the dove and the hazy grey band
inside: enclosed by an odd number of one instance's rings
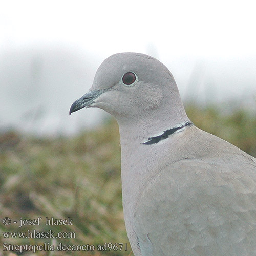
[[[255,54],[255,1],[2,1],[4,45],[66,41],[108,56]]]

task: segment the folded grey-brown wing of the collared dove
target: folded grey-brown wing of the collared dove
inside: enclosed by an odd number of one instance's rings
[[[255,159],[230,153],[166,164],[144,184],[135,210],[143,256],[256,255]]]

